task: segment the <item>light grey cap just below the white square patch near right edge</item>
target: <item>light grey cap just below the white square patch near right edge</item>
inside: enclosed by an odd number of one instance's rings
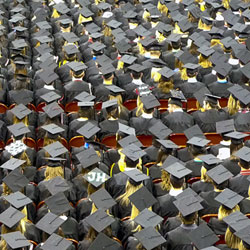
[[[233,177],[233,174],[221,164],[210,169],[206,174],[218,185]]]

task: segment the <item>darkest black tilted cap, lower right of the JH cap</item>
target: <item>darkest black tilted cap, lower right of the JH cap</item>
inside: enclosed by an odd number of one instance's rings
[[[145,208],[149,208],[157,202],[152,193],[150,193],[144,186],[130,195],[129,200],[136,206],[139,211],[142,211]]]

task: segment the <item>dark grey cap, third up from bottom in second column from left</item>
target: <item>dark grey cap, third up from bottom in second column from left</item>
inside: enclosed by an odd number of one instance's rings
[[[63,192],[50,196],[44,202],[48,206],[49,210],[56,215],[61,215],[72,209]]]

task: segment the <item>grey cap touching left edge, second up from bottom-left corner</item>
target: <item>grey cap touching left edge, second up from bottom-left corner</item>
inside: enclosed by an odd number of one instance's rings
[[[12,228],[24,217],[25,214],[10,206],[0,214],[0,222],[9,228]]]

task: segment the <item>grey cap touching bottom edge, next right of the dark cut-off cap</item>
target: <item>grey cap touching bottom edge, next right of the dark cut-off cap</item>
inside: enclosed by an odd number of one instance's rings
[[[154,249],[166,242],[161,234],[153,227],[147,227],[135,233],[134,237],[137,238],[147,250]]]

